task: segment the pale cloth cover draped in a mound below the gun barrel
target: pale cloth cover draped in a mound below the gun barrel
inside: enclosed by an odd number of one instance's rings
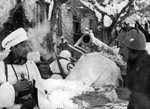
[[[100,53],[90,53],[82,56],[75,64],[66,80],[78,80],[87,85],[117,85],[120,68],[110,59]]]

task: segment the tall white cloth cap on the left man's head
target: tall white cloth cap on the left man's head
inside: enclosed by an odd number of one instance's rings
[[[20,42],[23,42],[25,40],[28,40],[27,33],[23,28],[19,28],[15,31],[13,31],[11,34],[9,34],[3,41],[2,41],[2,47],[6,50],[9,50],[10,47],[15,46],[19,44]]]

